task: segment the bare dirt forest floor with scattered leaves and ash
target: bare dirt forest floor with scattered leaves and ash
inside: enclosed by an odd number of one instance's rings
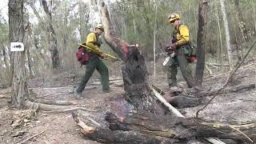
[[[161,62],[158,62],[158,66]],[[119,66],[119,63],[115,66]],[[224,73],[216,66],[209,66],[213,71],[213,75],[206,74],[202,88],[204,90],[217,90],[228,78],[228,73]],[[122,87],[122,76],[120,70],[110,68],[110,93],[103,94],[102,86],[98,81],[98,74],[90,79],[86,86],[89,90],[84,90],[81,100],[76,100],[72,91],[79,82],[79,77],[75,73],[66,72],[50,76],[47,78],[34,78],[28,82],[30,90],[30,98],[35,102],[42,100],[62,100],[74,102],[74,106],[84,107],[87,110],[81,110],[88,117],[93,118],[98,123],[106,126],[104,123],[104,115],[107,111],[126,114],[127,110],[123,109],[122,96],[124,90]],[[152,63],[148,64],[150,72],[154,71]],[[166,84],[166,72],[164,69],[158,69],[156,78],[154,74],[150,76],[150,82],[154,83],[162,90],[168,90]],[[256,62],[255,59],[246,62],[235,74],[234,83],[230,86],[239,86],[256,82]],[[178,80],[182,78],[179,74]],[[179,82],[179,86],[186,86],[184,82]],[[228,86],[228,87],[230,87]],[[256,94],[255,89],[242,90],[235,93],[219,94],[209,106],[199,114],[200,118],[214,121],[228,122],[248,122],[256,120]],[[208,100],[211,97],[208,98]],[[0,143],[25,143],[30,144],[54,144],[54,143],[72,143],[72,144],[94,144],[90,139],[82,137],[78,130],[77,124],[74,122],[71,113],[50,113],[39,110],[34,113],[33,110],[15,110],[8,106],[10,102],[10,88],[0,90]],[[129,106],[126,106],[129,107]],[[186,117],[194,117],[195,113],[202,106],[193,108],[180,109]],[[91,112],[90,110],[97,110]],[[38,134],[38,135],[37,135]],[[33,138],[30,138],[34,136]]]

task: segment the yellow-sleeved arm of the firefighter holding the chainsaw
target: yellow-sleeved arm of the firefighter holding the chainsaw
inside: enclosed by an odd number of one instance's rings
[[[185,44],[186,42],[189,42],[190,40],[190,32],[189,32],[189,29],[187,26],[180,26],[179,27],[179,33],[181,35],[181,39],[178,40],[178,42],[175,42],[175,45],[176,46],[180,46],[180,45],[183,45]]]

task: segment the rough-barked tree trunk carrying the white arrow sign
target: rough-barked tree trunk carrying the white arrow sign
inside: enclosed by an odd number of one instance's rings
[[[23,42],[23,0],[10,0],[8,6],[10,42]],[[14,107],[22,108],[24,101],[28,97],[25,51],[12,52],[12,58],[14,61],[11,104]]]

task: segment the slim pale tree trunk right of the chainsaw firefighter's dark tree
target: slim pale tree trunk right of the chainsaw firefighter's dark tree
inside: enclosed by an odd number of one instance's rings
[[[221,7],[222,7],[222,18],[224,22],[224,28],[225,28],[225,34],[226,34],[226,52],[227,52],[227,58],[229,60],[230,64],[230,70],[232,70],[232,50],[230,47],[230,31],[229,31],[229,24],[226,17],[226,6],[224,0],[220,0]]]

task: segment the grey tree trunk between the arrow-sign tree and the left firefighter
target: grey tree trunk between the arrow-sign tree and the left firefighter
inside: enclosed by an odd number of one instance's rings
[[[46,0],[42,0],[42,6],[48,18],[47,41],[50,43],[51,64],[53,69],[57,69],[60,66],[60,61],[57,49],[57,38],[53,26],[52,14],[51,10],[49,9],[49,6],[47,5]]]

